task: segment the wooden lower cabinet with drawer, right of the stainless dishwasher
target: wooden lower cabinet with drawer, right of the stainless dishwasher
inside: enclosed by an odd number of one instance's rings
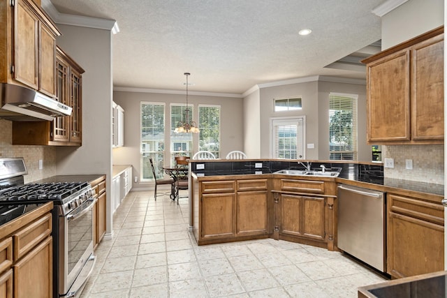
[[[403,278],[444,270],[444,207],[388,193],[387,271]]]

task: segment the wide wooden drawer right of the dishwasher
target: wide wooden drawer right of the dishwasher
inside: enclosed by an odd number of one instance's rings
[[[391,212],[444,225],[444,207],[441,204],[388,193],[388,206]]]

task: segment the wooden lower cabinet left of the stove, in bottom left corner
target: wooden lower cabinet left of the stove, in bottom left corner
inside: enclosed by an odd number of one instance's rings
[[[0,225],[0,297],[53,295],[53,203]]]

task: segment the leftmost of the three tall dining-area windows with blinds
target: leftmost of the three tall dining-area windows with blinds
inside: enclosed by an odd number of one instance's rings
[[[154,179],[149,158],[154,162],[157,178],[163,177],[165,151],[165,104],[140,103],[140,180]]]

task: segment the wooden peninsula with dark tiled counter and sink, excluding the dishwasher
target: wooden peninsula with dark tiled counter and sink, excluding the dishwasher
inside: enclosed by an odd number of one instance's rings
[[[270,237],[337,251],[337,184],[346,184],[386,193],[386,273],[443,269],[444,186],[384,179],[381,163],[309,165],[339,175],[277,173],[305,170],[286,160],[191,161],[190,225],[198,245]]]

